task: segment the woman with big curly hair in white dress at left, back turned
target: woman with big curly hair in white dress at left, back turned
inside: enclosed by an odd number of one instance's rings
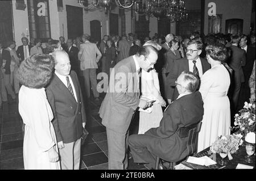
[[[51,80],[54,61],[47,54],[35,54],[18,69],[22,87],[19,91],[19,113],[24,129],[24,169],[60,169],[56,136],[51,120],[53,113],[44,86]]]

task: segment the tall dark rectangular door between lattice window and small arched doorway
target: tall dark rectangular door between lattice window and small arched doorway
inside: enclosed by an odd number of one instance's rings
[[[84,33],[84,22],[82,20],[82,8],[66,5],[68,38],[82,36]]]

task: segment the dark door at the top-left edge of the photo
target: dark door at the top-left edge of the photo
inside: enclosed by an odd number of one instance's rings
[[[4,43],[14,40],[11,2],[12,1],[0,1],[0,40]]]

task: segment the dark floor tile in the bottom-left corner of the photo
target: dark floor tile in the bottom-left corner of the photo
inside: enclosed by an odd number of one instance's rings
[[[14,170],[24,168],[23,157],[1,161],[1,170]]]

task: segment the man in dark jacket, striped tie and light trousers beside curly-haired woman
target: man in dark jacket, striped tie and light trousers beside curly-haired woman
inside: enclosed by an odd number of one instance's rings
[[[68,54],[64,50],[57,50],[53,57],[56,61],[55,73],[46,94],[54,115],[52,124],[60,153],[60,165],[63,170],[78,170],[82,127],[86,123],[82,92],[75,71],[70,72]]]

